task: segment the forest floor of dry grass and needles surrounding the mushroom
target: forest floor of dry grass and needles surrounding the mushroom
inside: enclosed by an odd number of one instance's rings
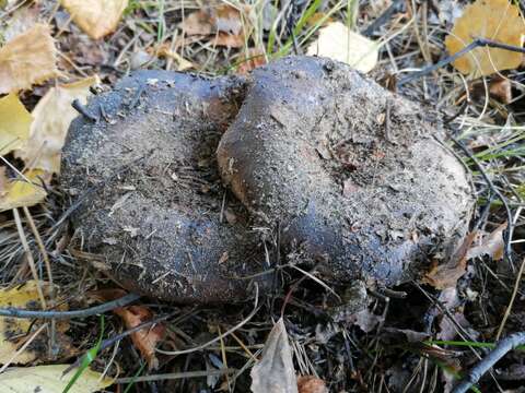
[[[102,335],[106,345],[90,368],[117,378],[106,391],[248,392],[250,369],[282,313],[296,373],[323,380],[330,392],[450,392],[500,338],[525,332],[522,66],[477,76],[447,64],[396,86],[447,57],[445,37],[464,7],[454,0],[130,0],[115,32],[93,39],[56,1],[7,1],[0,9],[0,37],[9,41],[5,32],[13,34],[13,25],[20,25],[20,33],[36,22],[48,23],[59,53],[60,76],[20,94],[28,110],[57,83],[93,74],[105,86],[144,68],[246,74],[278,57],[306,53],[319,28],[340,21],[378,43],[370,78],[447,119],[447,131],[458,142],[450,145],[471,171],[477,201],[470,250],[462,255],[453,285],[413,281],[370,290],[366,310],[336,321],[328,299],[343,288],[284,269],[287,284],[255,306],[174,306],[141,298],[135,311],[71,319],[67,326],[49,321],[39,329],[42,321],[34,322],[11,337],[11,352],[32,356],[11,366],[73,364]],[[116,284],[96,269],[82,245],[71,241],[72,228],[60,219],[69,201],[57,179],[50,184],[45,202],[20,214],[0,213],[0,284],[20,287],[35,273],[34,263],[40,279],[52,274],[55,305],[84,309],[114,298],[108,290],[118,290]],[[337,307],[345,309],[343,303]],[[153,332],[152,342],[136,336],[133,345],[129,329],[148,320],[161,326],[162,338],[150,324],[145,329]],[[8,329],[16,332],[8,322],[0,323],[4,335]],[[37,335],[39,347],[33,342]],[[31,345],[23,347],[27,337]],[[60,340],[67,345],[55,343]],[[188,350],[170,354],[182,349]],[[518,348],[474,389],[525,392],[524,383],[525,356]]]

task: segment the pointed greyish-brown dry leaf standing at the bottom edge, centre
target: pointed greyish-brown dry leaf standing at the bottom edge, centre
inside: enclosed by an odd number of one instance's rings
[[[298,393],[292,350],[282,318],[271,330],[261,359],[250,372],[253,393]]]

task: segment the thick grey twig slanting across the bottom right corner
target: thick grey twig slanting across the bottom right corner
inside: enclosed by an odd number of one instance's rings
[[[465,393],[477,383],[503,356],[515,347],[525,344],[525,332],[515,333],[498,343],[495,348],[478,362],[468,374],[454,388],[452,393]]]

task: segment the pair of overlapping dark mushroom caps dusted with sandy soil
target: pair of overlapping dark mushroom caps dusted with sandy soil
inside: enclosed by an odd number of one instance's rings
[[[88,110],[98,121],[78,118],[63,151],[77,238],[153,297],[243,300],[280,254],[339,283],[395,285],[468,229],[470,180],[438,128],[341,63],[141,71]]]

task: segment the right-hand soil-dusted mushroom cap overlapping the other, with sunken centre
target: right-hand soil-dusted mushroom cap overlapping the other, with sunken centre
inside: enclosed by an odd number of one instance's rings
[[[285,58],[253,72],[218,163],[252,214],[280,223],[296,262],[395,285],[452,254],[474,205],[427,117],[343,63]]]

